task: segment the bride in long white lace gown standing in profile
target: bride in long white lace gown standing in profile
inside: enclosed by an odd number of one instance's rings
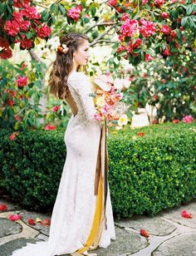
[[[72,116],[66,127],[66,162],[51,215],[47,242],[27,244],[14,256],[96,255],[88,250],[106,248],[115,239],[107,184],[105,130],[96,121],[91,82],[79,71],[89,55],[88,37],[69,33],[61,37],[51,71],[50,91],[66,99]],[[104,171],[103,171],[104,170]],[[108,192],[108,193],[106,193]]]

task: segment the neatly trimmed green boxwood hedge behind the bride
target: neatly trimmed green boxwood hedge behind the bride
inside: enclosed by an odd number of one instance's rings
[[[154,215],[196,195],[196,123],[147,126],[108,136],[114,214]],[[145,132],[144,136],[137,133]],[[0,130],[0,185],[28,209],[51,211],[66,160],[65,130]]]

